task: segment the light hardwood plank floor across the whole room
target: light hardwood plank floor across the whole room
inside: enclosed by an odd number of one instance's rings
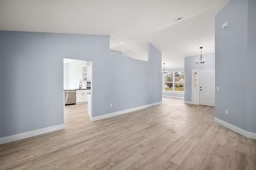
[[[255,170],[256,140],[214,122],[214,107],[163,104],[91,122],[64,107],[65,129],[0,145],[0,169]]]

